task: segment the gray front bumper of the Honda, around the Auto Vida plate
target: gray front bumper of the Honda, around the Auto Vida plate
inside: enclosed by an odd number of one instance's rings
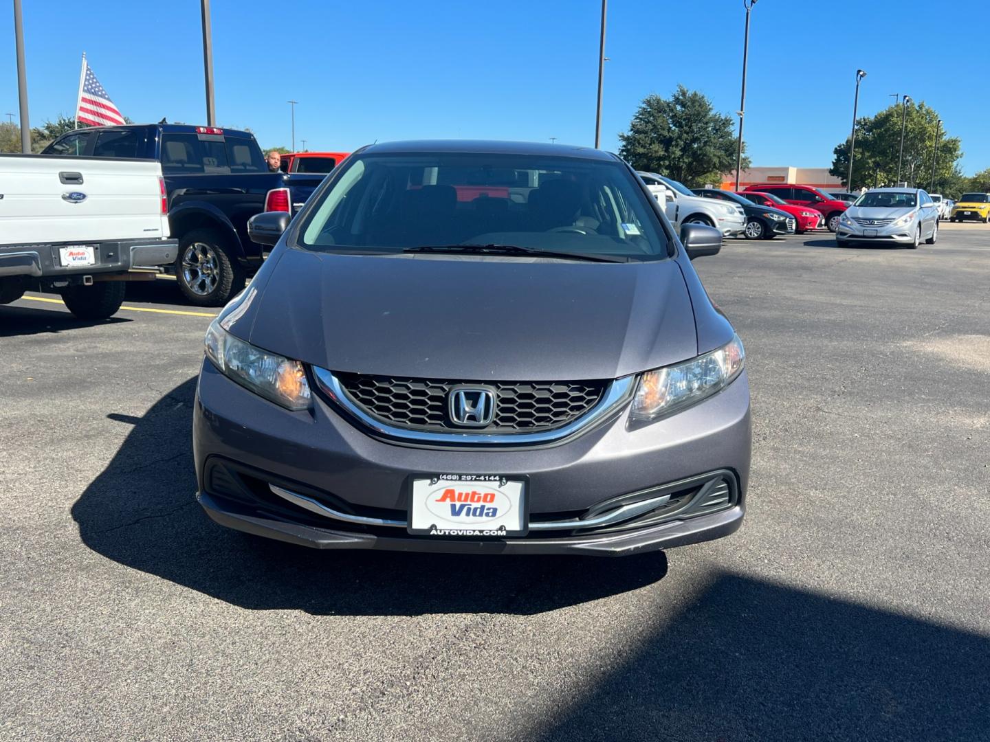
[[[745,373],[720,394],[650,424],[630,424],[628,407],[552,446],[413,447],[372,437],[320,398],[309,412],[282,410],[204,362],[193,426],[197,498],[223,525],[317,548],[621,555],[735,531],[743,518],[751,446]],[[485,539],[411,535],[404,527],[316,514],[271,489],[304,493],[364,519],[404,522],[409,476],[441,472],[527,477],[529,534]],[[714,476],[732,486],[709,507],[695,483]],[[692,484],[676,504],[670,501],[671,510],[647,513],[642,520],[600,529],[535,527],[569,522],[604,501],[681,482]]]

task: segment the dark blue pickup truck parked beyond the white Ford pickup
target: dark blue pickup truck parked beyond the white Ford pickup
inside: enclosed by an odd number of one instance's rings
[[[175,277],[201,307],[226,304],[264,259],[247,220],[263,211],[294,214],[325,177],[269,172],[250,132],[184,124],[79,129],[42,154],[158,160],[168,225],[179,240]]]

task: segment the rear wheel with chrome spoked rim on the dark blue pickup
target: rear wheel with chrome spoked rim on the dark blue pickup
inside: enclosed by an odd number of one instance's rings
[[[214,230],[193,230],[179,241],[175,278],[185,298],[199,307],[223,307],[245,287],[245,269]]]

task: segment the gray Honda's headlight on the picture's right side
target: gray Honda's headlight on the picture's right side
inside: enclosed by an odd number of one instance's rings
[[[690,361],[640,375],[631,417],[656,419],[701,402],[728,387],[743,371],[743,341],[735,335],[726,345]]]

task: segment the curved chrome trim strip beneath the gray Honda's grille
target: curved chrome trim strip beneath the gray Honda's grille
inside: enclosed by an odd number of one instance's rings
[[[598,403],[588,410],[588,412],[565,425],[548,430],[541,430],[540,432],[485,433],[471,431],[469,429],[451,429],[445,432],[433,432],[398,427],[371,417],[350,400],[340,379],[337,378],[333,371],[328,371],[319,366],[312,366],[312,369],[317,385],[324,394],[333,399],[351,417],[355,417],[363,425],[381,435],[421,444],[434,443],[470,446],[539,445],[541,443],[550,443],[568,438],[607,417],[628,402],[636,387],[635,382],[637,378],[636,375],[624,376],[609,383],[605,387],[605,391],[602,393]]]

